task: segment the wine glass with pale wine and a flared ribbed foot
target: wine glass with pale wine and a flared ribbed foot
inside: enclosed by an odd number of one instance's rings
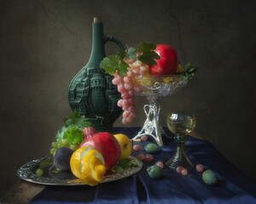
[[[172,158],[166,162],[166,166],[173,170],[177,167],[192,169],[194,164],[186,156],[185,143],[188,133],[195,127],[195,116],[193,114],[170,113],[167,116],[166,124],[169,130],[175,135],[176,150]]]

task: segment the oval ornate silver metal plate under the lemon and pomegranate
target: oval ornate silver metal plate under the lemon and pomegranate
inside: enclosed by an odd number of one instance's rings
[[[122,173],[113,173],[108,171],[101,183],[126,178],[134,173],[139,172],[143,167],[143,161],[133,156],[131,156],[130,158],[134,161],[134,167],[127,168]],[[44,175],[41,177],[39,177],[36,173],[38,167],[44,170]],[[36,184],[86,185],[81,179],[76,178],[71,171],[57,170],[53,166],[53,158],[51,156],[27,162],[17,170],[17,174],[21,179]]]

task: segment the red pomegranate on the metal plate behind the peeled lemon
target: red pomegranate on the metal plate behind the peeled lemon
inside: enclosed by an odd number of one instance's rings
[[[111,169],[119,161],[121,150],[118,140],[111,133],[96,133],[93,127],[85,127],[83,133],[84,141],[79,147],[88,145],[100,151],[104,157],[106,169]]]

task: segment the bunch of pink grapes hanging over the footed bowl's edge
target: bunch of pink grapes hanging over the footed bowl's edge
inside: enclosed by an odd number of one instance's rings
[[[112,83],[117,86],[121,94],[122,99],[119,99],[117,105],[122,107],[123,110],[123,124],[132,122],[136,117],[133,77],[143,76],[148,72],[148,65],[139,60],[127,59],[125,62],[129,65],[128,71],[123,77],[119,77],[118,72],[115,72],[112,80]]]

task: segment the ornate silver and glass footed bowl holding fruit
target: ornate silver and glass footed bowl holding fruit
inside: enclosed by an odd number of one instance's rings
[[[160,126],[160,105],[159,99],[163,96],[176,94],[181,88],[186,86],[188,79],[179,76],[141,76],[134,77],[134,89],[137,96],[146,96],[148,105],[143,106],[146,120],[143,128],[137,133],[133,140],[139,139],[143,135],[151,136],[157,144],[163,145],[161,134],[164,133]],[[166,134],[166,133],[164,133]]]

